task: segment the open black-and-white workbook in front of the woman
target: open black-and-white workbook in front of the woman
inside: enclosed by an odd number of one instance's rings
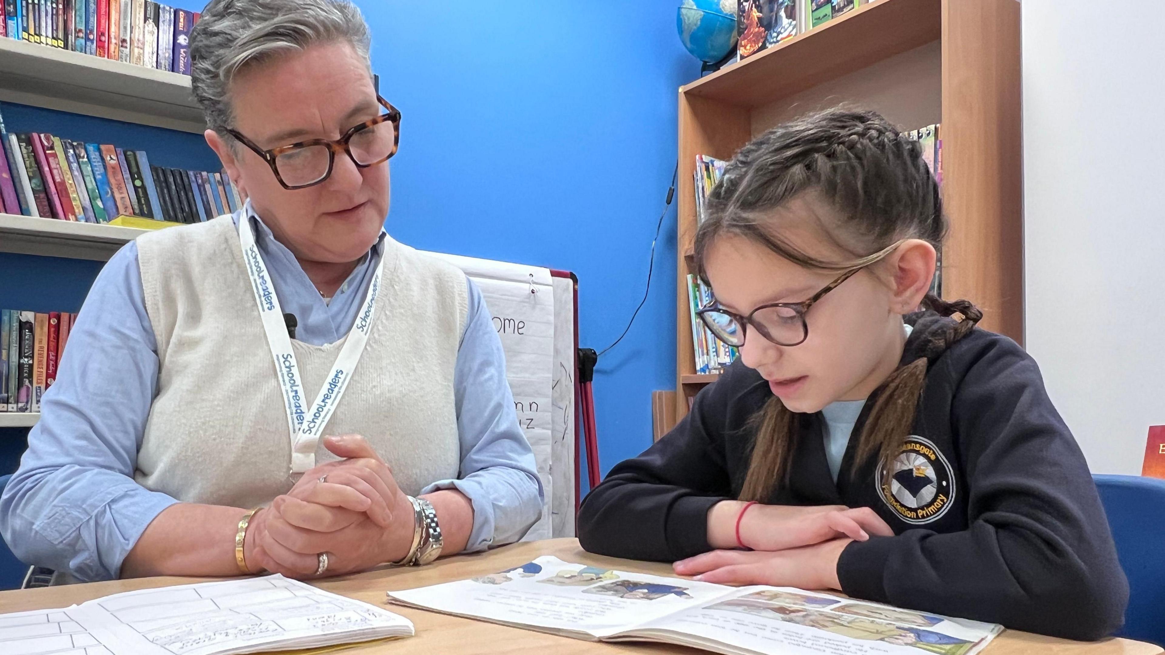
[[[411,635],[404,617],[283,576],[0,614],[3,655],[228,655]]]

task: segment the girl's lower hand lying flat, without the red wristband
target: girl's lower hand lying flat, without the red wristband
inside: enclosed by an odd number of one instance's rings
[[[676,562],[672,568],[680,576],[696,576],[705,583],[840,590],[838,559],[852,542],[839,538],[777,552],[713,550]]]

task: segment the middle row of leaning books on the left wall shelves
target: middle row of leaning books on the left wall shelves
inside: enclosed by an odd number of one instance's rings
[[[198,223],[241,205],[226,172],[151,165],[144,150],[52,134],[8,134],[0,122],[0,209],[82,223],[137,216]]]

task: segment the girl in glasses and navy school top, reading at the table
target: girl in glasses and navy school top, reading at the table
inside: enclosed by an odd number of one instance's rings
[[[1036,362],[927,293],[947,225],[918,143],[873,112],[809,115],[741,149],[707,209],[698,314],[740,361],[587,495],[584,548],[1072,639],[1120,627],[1128,584]]]

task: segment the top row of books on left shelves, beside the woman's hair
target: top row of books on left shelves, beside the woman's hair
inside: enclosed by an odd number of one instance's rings
[[[0,0],[0,36],[190,75],[200,16],[151,0]]]

